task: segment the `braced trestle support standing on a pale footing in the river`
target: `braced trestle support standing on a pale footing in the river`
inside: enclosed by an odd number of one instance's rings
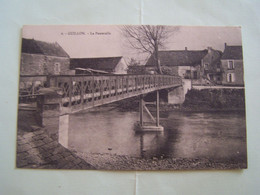
[[[158,131],[163,131],[164,128],[160,125],[160,104],[159,104],[159,91],[156,91],[156,102],[153,103],[153,105],[156,105],[156,119],[152,116],[148,108],[146,107],[146,104],[151,104],[151,103],[146,103],[144,101],[144,96],[140,95],[140,102],[139,102],[139,111],[140,111],[140,122],[139,122],[139,127],[137,129],[138,132],[158,132]],[[144,110],[147,112],[148,116],[152,119],[153,123],[146,123],[144,122]]]

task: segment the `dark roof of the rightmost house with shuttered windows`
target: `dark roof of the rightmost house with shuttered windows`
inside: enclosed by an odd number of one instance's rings
[[[243,59],[242,46],[226,45],[221,59],[222,60],[226,60],[226,59],[242,60]]]

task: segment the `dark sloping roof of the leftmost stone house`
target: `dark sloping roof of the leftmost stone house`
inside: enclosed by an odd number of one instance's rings
[[[47,56],[68,57],[69,55],[57,43],[47,43],[34,39],[22,39],[22,53],[42,54]]]

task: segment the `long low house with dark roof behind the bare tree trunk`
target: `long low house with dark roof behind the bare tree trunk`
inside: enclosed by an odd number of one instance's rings
[[[201,60],[208,53],[207,50],[170,50],[159,51],[158,57],[162,71],[171,75],[179,75],[185,79],[200,78]],[[151,55],[146,63],[147,69],[155,67],[155,58]]]

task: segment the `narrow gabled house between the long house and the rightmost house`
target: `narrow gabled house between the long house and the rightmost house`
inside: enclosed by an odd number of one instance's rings
[[[215,84],[222,83],[222,68],[221,68],[222,52],[208,47],[208,53],[201,61],[202,78],[207,79]]]

